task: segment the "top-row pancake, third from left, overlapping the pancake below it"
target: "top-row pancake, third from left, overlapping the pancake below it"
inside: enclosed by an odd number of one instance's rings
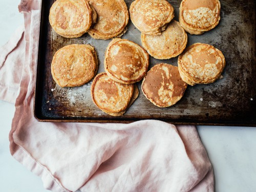
[[[148,35],[160,35],[174,18],[174,8],[165,0],[136,0],[129,11],[135,27]]]

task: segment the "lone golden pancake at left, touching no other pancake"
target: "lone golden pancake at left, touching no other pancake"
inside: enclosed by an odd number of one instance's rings
[[[97,73],[98,58],[90,45],[68,45],[53,56],[51,72],[60,87],[76,87],[89,82]]]

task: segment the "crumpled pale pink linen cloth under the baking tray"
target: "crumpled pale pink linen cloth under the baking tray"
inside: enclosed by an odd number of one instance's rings
[[[214,191],[213,170],[195,126],[33,118],[39,5],[20,3],[25,31],[19,28],[1,48],[0,99],[13,101],[17,95],[9,135],[13,157],[52,191]]]

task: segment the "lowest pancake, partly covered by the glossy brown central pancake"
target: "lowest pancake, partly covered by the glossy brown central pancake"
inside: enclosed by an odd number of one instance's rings
[[[93,80],[91,96],[101,111],[121,116],[138,97],[138,88],[135,84],[113,81],[106,73],[100,73]]]

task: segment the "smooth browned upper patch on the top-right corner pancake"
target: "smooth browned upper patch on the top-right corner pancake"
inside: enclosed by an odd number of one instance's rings
[[[184,2],[184,8],[189,9],[189,10],[195,10],[200,7],[206,7],[209,8],[210,10],[214,10],[216,7],[216,4],[214,1],[211,0],[187,0]]]

